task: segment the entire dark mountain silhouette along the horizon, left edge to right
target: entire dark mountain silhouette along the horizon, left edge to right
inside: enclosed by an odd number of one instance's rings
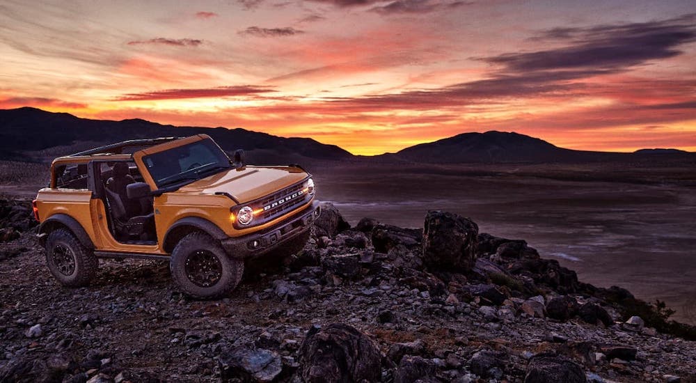
[[[243,148],[249,163],[287,164],[314,161],[456,163],[551,163],[654,161],[688,159],[696,153],[676,149],[640,149],[634,153],[592,152],[559,148],[542,139],[515,132],[463,133],[446,139],[421,143],[374,157],[354,156],[335,145],[307,138],[284,138],[242,128],[176,127],[141,118],[90,120],[67,113],[52,113],[24,107],[0,109],[0,159],[50,162],[95,146],[163,136],[191,136],[205,133],[228,151]]]

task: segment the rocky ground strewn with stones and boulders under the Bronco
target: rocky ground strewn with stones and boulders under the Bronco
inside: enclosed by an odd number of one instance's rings
[[[0,382],[696,382],[696,331],[665,308],[454,214],[350,228],[326,206],[303,251],[213,301],[146,260],[63,288],[33,226],[0,203]]]

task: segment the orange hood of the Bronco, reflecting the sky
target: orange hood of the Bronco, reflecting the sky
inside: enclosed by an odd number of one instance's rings
[[[180,187],[178,193],[227,193],[239,203],[253,201],[305,179],[308,174],[295,167],[246,166],[221,171]]]

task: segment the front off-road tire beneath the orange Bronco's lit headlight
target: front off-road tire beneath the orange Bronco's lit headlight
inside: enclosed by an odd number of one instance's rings
[[[219,267],[219,276],[214,279],[214,283],[205,281],[213,283],[212,285],[202,285],[200,279],[196,283],[195,270],[187,271],[191,263],[196,263],[196,258],[193,257],[204,257],[208,264],[213,263],[215,267]],[[237,287],[244,274],[244,261],[228,256],[220,243],[209,235],[194,232],[183,237],[174,247],[169,269],[175,283],[185,294],[208,299],[222,297]]]

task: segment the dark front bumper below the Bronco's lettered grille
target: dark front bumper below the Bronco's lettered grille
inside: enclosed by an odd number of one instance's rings
[[[242,237],[230,237],[221,240],[220,243],[232,258],[246,259],[262,256],[282,247],[287,241],[306,233],[321,212],[319,203],[314,201],[295,217],[280,222],[276,226]]]

